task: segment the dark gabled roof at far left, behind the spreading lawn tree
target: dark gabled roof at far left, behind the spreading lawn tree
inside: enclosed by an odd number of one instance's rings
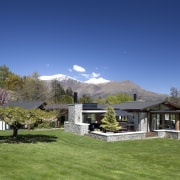
[[[43,109],[46,103],[42,101],[10,101],[3,105],[3,107],[23,107],[26,109],[36,109],[41,108]]]

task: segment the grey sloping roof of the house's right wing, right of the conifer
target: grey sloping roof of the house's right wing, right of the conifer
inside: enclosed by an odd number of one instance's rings
[[[114,109],[139,111],[162,103],[164,103],[164,101],[129,101],[121,104],[115,104],[113,107]]]

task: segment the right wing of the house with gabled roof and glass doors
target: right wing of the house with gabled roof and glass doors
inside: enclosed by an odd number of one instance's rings
[[[168,101],[132,101],[114,105],[133,114],[135,131],[180,130],[180,107]]]

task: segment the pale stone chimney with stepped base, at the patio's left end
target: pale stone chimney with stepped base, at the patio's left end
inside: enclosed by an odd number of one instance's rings
[[[82,123],[82,104],[72,104],[68,107],[68,121],[64,122],[64,131],[75,134],[88,134],[89,124]]]

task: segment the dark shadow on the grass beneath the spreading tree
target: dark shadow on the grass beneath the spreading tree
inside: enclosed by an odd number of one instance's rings
[[[49,135],[38,135],[38,134],[26,134],[26,135],[18,135],[16,138],[12,136],[0,136],[0,144],[9,143],[9,144],[18,144],[18,143],[51,143],[56,142],[56,136]]]

